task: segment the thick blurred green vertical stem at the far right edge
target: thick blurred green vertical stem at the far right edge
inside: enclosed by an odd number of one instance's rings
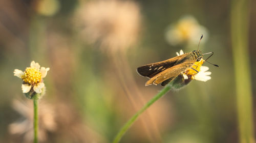
[[[231,40],[236,80],[239,140],[254,142],[251,73],[248,53],[250,0],[233,0]]]

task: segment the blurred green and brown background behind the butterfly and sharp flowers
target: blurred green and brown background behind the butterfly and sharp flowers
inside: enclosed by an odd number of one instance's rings
[[[33,140],[33,104],[14,69],[33,60],[50,67],[39,142],[111,142],[162,89],[145,87],[136,68],[196,50],[203,34],[200,50],[214,51],[209,62],[220,66],[204,64],[211,80],[168,92],[121,142],[239,142],[230,9],[231,1],[220,0],[0,1],[0,141]],[[255,16],[251,9],[249,73],[256,72]],[[254,103],[256,75],[250,79]]]

